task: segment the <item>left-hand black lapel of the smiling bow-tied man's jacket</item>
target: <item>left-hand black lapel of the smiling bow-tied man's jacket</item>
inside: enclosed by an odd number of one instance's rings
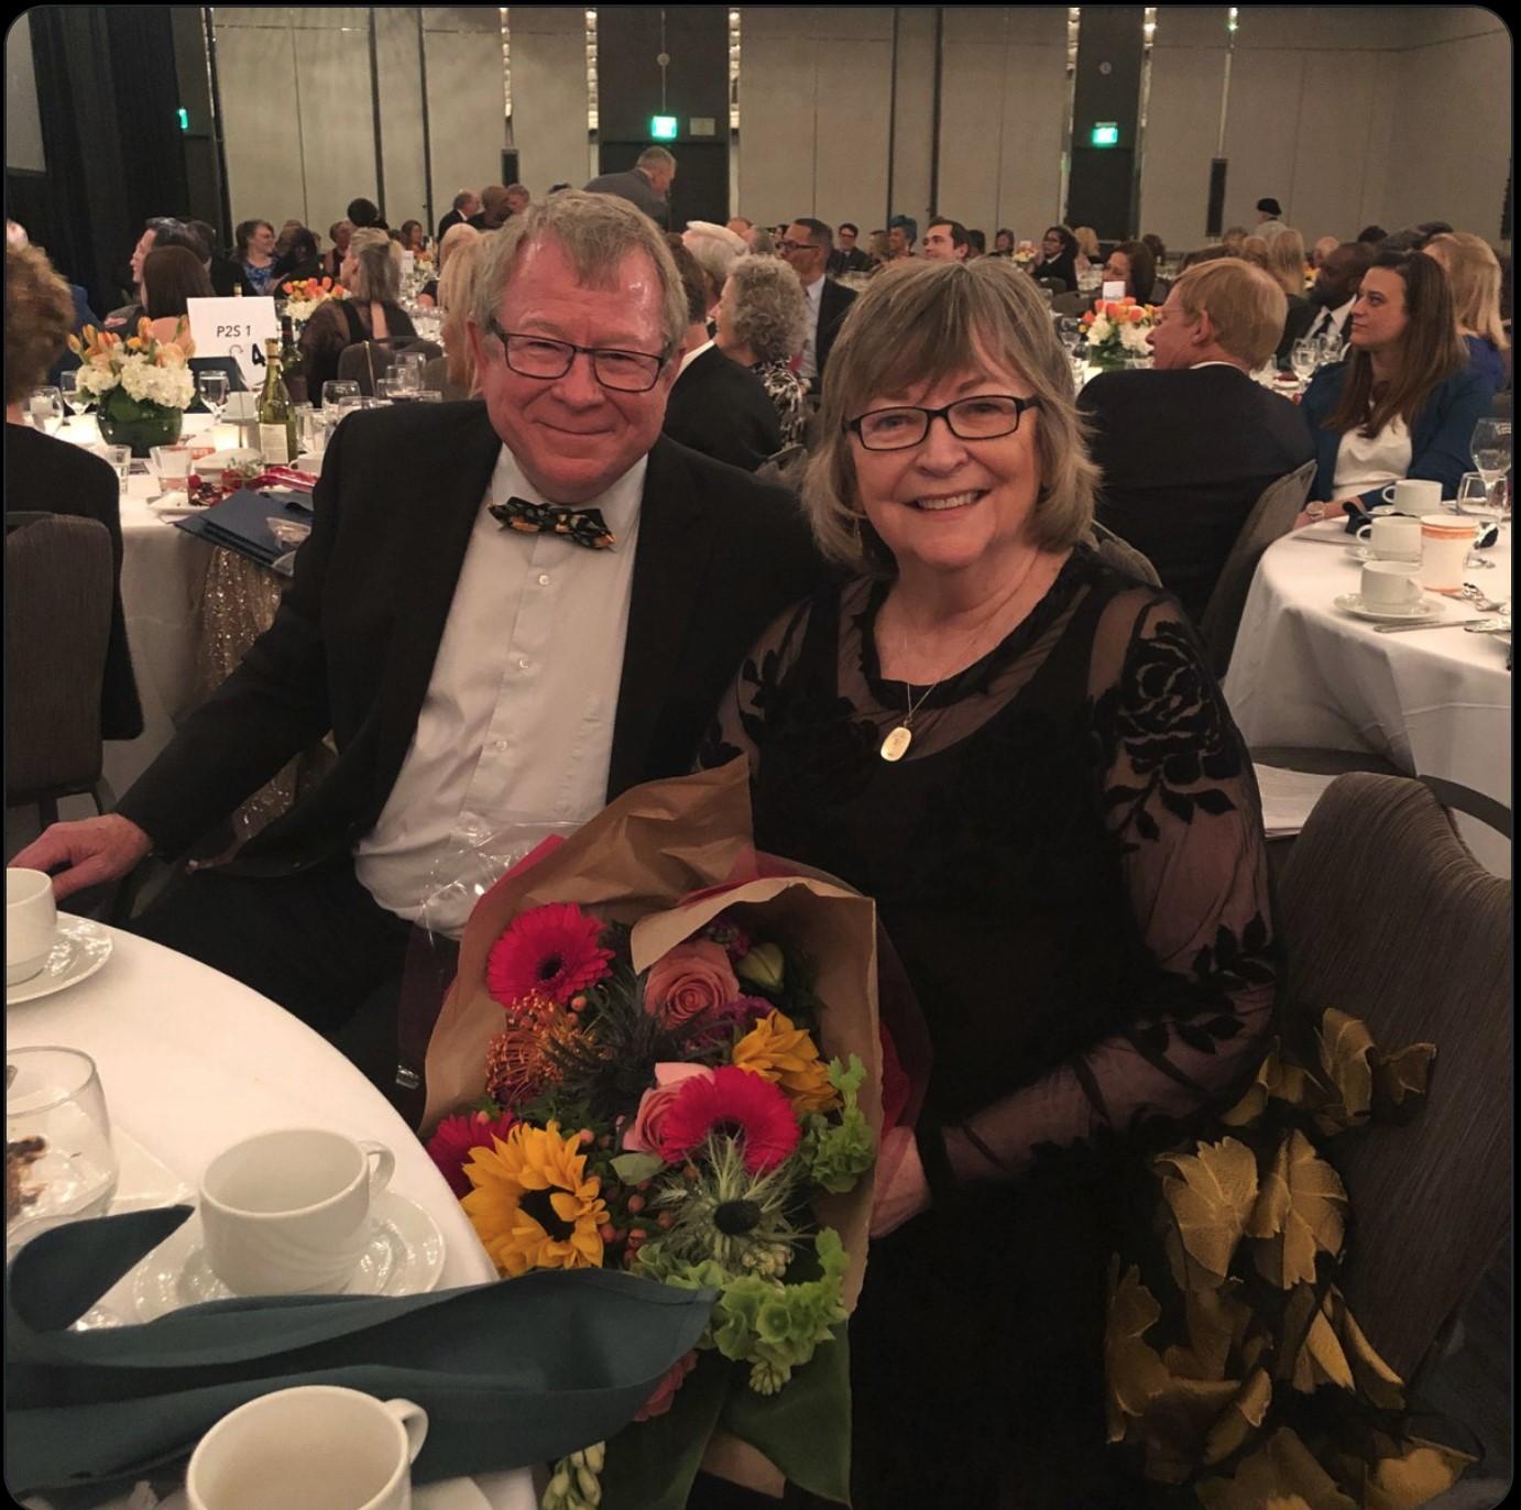
[[[429,497],[427,547],[420,550],[411,573],[411,590],[397,604],[397,627],[382,672],[380,715],[376,745],[374,814],[379,817],[397,771],[406,757],[427,683],[438,658],[438,645],[449,622],[455,587],[470,546],[476,514],[491,482],[502,441],[487,417],[485,404],[470,421],[462,439],[453,432],[440,439],[426,462],[420,490]],[[429,488],[437,485],[437,493]]]

